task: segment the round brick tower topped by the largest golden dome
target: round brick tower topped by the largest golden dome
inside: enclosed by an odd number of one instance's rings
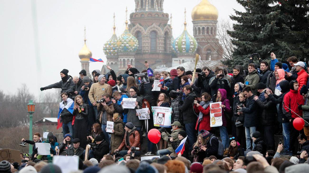
[[[201,60],[219,60],[222,56],[221,45],[218,44],[217,19],[218,10],[208,0],[202,0],[192,10],[193,36],[196,39],[197,54]]]

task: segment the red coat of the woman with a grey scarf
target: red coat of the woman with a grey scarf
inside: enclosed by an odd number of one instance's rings
[[[207,131],[211,130],[212,127],[210,127],[209,106],[205,110],[202,106],[197,107],[196,105],[194,105],[194,109],[195,109],[196,112],[202,112],[203,113],[203,119],[200,122],[199,129],[197,129],[197,125],[198,125],[198,119],[197,119],[195,130],[197,130],[197,131],[201,131],[202,129],[207,130]]]

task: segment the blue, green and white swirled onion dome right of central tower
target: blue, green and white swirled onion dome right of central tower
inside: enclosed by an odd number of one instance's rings
[[[175,39],[174,44],[172,45],[174,50],[177,53],[193,53],[197,49],[197,42],[189,35],[186,29],[186,22],[184,23],[184,32]]]

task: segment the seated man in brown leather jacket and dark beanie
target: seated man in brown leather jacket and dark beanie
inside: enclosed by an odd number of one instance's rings
[[[140,143],[140,135],[137,131],[137,128],[133,126],[133,123],[129,122],[125,124],[125,137],[122,140],[122,143],[116,149],[116,151],[120,151],[121,157],[131,154],[131,151],[134,152],[135,156],[141,155],[141,143]],[[122,150],[122,148],[125,147],[125,150]],[[121,151],[122,150],[122,151]]]

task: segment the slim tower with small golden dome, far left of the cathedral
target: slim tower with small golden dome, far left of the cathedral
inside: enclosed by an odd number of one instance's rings
[[[88,49],[86,45],[86,26],[85,26],[85,44],[82,50],[79,51],[78,56],[80,58],[80,62],[82,63],[82,70],[85,69],[87,72],[87,76],[91,77],[91,72],[89,71],[89,59],[92,56],[92,52]]]

